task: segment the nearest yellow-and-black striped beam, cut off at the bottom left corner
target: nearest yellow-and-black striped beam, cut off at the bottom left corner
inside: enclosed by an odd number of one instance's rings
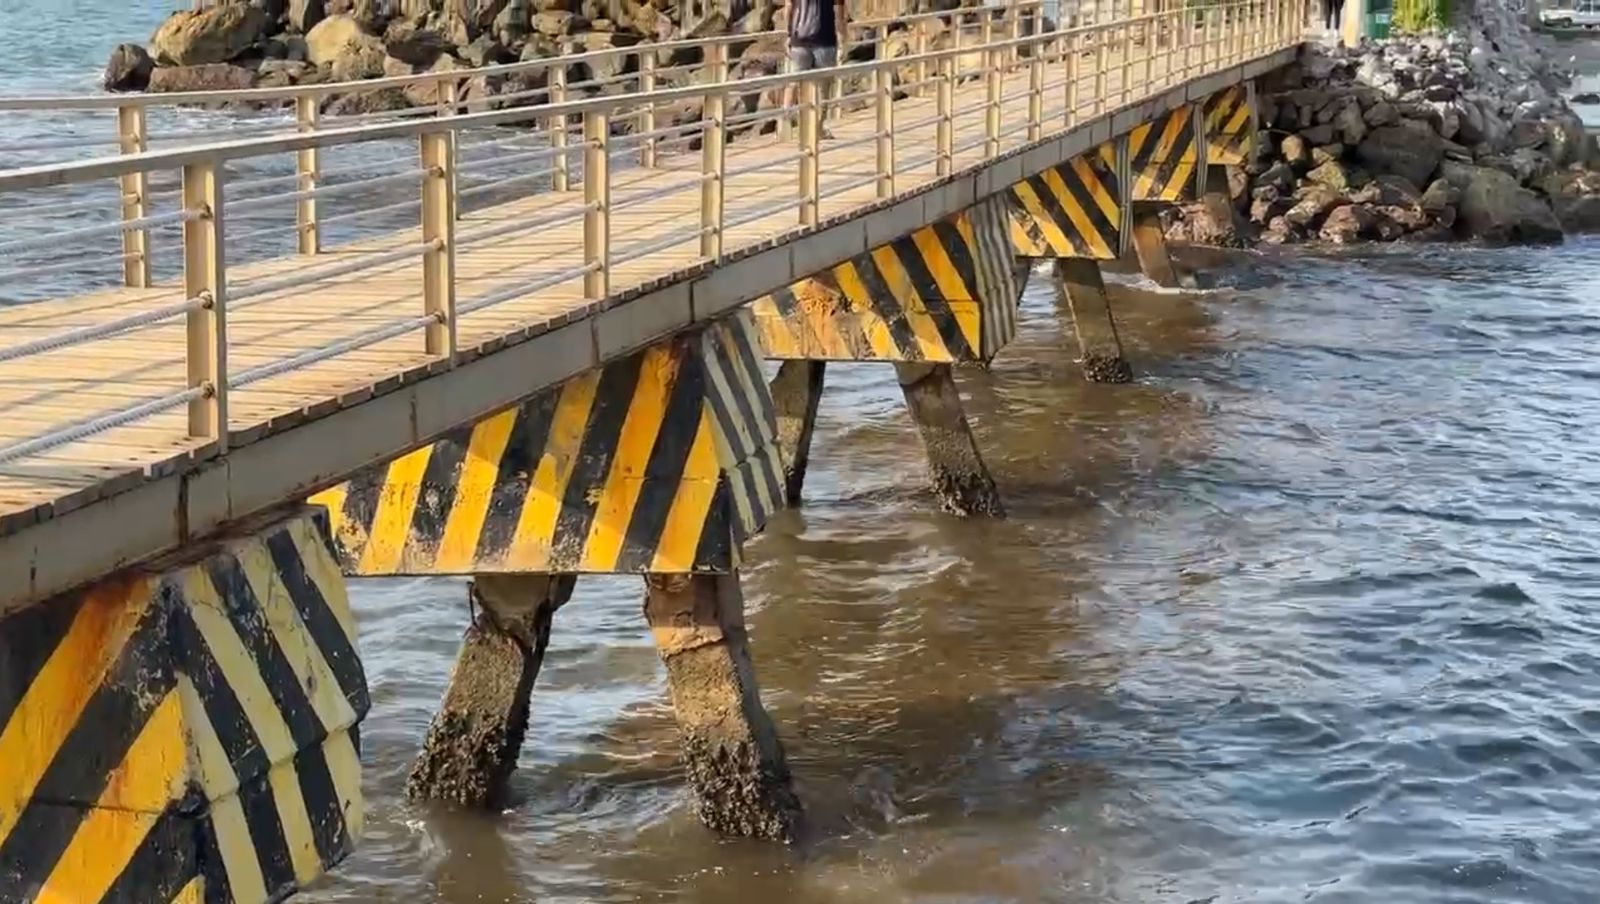
[[[320,512],[0,621],[0,901],[282,901],[362,830]]]

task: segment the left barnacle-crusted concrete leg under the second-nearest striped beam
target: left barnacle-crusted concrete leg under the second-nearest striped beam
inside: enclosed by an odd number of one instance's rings
[[[478,574],[472,626],[450,688],[411,766],[406,797],[491,806],[506,790],[528,730],[528,698],[550,642],[550,618],[573,595],[571,574]]]

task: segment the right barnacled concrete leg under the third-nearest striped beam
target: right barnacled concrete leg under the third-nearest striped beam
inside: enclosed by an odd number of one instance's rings
[[[928,450],[928,475],[939,507],[962,517],[1005,517],[1000,491],[962,411],[950,365],[898,363],[894,373]]]

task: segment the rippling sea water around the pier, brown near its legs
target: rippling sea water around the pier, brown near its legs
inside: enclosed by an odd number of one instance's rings
[[[171,6],[0,0],[0,94]],[[960,374],[1005,522],[934,512],[891,370],[829,370],[744,571],[810,842],[693,819],[637,579],[557,614],[506,810],[406,803],[464,584],[360,581],[366,838],[302,899],[1595,901],[1600,242],[1203,266],[1115,288],[1133,386],[1034,278]]]

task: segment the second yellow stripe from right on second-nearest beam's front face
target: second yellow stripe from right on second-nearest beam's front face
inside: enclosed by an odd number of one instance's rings
[[[678,379],[682,352],[677,346],[653,346],[638,366],[638,382],[622,418],[622,432],[611,456],[611,470],[600,490],[595,517],[584,541],[584,568],[610,571],[622,554],[627,522],[645,488],[645,470],[667,418],[667,400]]]

